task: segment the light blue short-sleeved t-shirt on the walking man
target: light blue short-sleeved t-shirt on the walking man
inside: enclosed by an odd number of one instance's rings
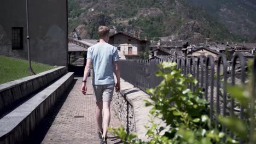
[[[114,84],[114,62],[119,60],[117,47],[97,43],[88,48],[87,59],[92,59],[92,85]]]

